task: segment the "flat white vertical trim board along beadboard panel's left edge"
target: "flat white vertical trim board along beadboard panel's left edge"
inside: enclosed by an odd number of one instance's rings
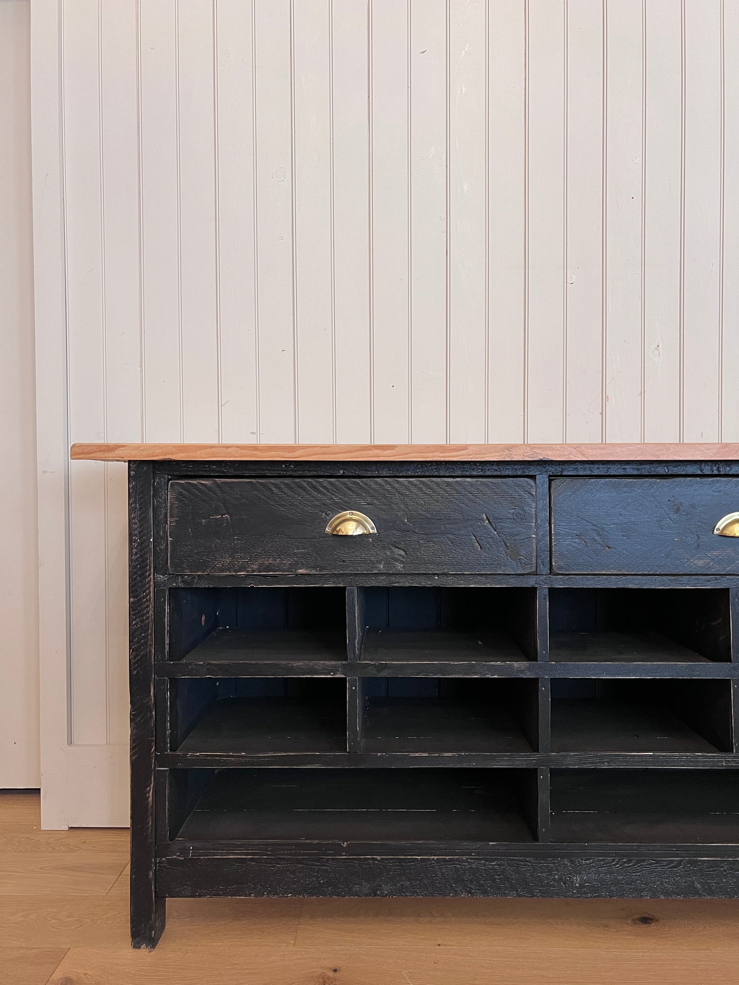
[[[41,826],[65,828],[69,736],[69,459],[60,5],[31,8]]]

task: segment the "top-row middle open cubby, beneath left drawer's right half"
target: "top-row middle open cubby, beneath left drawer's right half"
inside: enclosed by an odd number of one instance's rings
[[[535,588],[357,589],[360,659],[537,659]]]

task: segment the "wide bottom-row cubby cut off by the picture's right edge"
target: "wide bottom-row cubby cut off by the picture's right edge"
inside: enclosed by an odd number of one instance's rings
[[[739,843],[736,769],[553,769],[551,840]]]

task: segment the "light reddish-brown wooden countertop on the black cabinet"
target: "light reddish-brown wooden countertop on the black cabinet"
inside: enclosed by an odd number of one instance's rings
[[[100,444],[72,445],[74,459],[127,461],[502,461],[739,460],[739,444]]]

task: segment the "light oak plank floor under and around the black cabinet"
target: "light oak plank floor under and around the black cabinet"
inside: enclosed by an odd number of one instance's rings
[[[135,952],[127,856],[0,792],[2,985],[739,983],[739,900],[170,900]]]

